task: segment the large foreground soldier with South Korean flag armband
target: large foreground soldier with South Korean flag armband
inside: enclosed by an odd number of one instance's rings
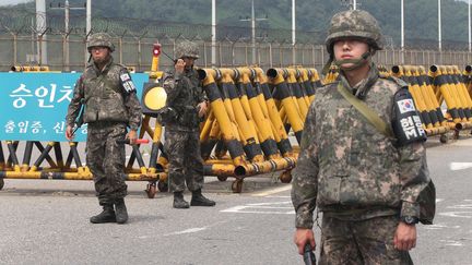
[[[294,241],[299,254],[308,243],[315,249],[317,207],[322,212],[319,264],[412,264],[408,251],[416,244],[418,195],[429,181],[421,122],[405,122],[420,119],[413,100],[405,83],[380,76],[373,63],[382,45],[369,13],[335,14],[326,45],[328,67],[334,62],[340,77],[317,89],[305,121],[293,173]],[[377,130],[339,89],[374,110],[391,135]],[[405,130],[413,130],[408,141]]]

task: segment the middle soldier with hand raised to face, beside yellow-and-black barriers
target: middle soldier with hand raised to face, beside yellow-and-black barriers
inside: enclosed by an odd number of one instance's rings
[[[175,208],[189,206],[214,206],[215,202],[204,197],[203,159],[200,154],[199,124],[208,109],[193,62],[199,58],[198,46],[182,41],[176,48],[177,61],[173,70],[163,76],[167,93],[166,107],[175,113],[165,121],[164,149],[168,157],[169,188],[174,192]],[[190,205],[184,200],[185,183],[192,192]]]

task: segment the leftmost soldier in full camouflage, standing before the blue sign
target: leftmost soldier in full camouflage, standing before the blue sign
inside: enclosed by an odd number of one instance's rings
[[[129,138],[131,144],[135,142],[141,105],[128,70],[114,62],[115,46],[110,36],[106,33],[90,36],[87,49],[93,61],[75,84],[66,118],[66,137],[73,138],[74,121],[84,105],[83,120],[88,123],[86,164],[103,206],[103,212],[93,216],[91,222],[125,224],[128,220],[125,145],[117,141]]]

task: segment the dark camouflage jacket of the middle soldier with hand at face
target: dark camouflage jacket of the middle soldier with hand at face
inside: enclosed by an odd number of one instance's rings
[[[198,131],[200,119],[197,106],[205,100],[198,72],[194,69],[177,74],[167,71],[163,76],[163,87],[167,93],[166,106],[177,110],[178,119],[166,124],[166,130]]]

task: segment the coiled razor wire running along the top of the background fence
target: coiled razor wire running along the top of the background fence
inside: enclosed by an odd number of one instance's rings
[[[47,25],[39,28],[35,25],[38,16],[27,10],[8,10],[0,12],[0,34],[32,35],[32,34],[52,34],[52,35],[82,35],[86,36],[85,16],[83,14],[71,14],[69,16],[69,32],[64,29],[64,17],[62,14],[48,14]],[[43,19],[44,20],[44,19]],[[143,20],[131,17],[92,17],[92,33],[107,32],[117,37],[146,37],[157,39],[200,39],[211,41],[211,25],[189,24],[162,20]],[[217,41],[251,41],[251,28],[248,26],[216,25]],[[296,31],[297,44],[322,45],[326,33],[321,31]],[[391,38],[391,37],[390,37]],[[256,43],[282,43],[292,44],[292,29],[287,28],[256,28]],[[455,39],[442,39],[445,50],[467,50],[467,41]],[[392,40],[392,46],[397,46]],[[408,38],[405,48],[409,49],[437,49],[437,39],[428,38]]]

